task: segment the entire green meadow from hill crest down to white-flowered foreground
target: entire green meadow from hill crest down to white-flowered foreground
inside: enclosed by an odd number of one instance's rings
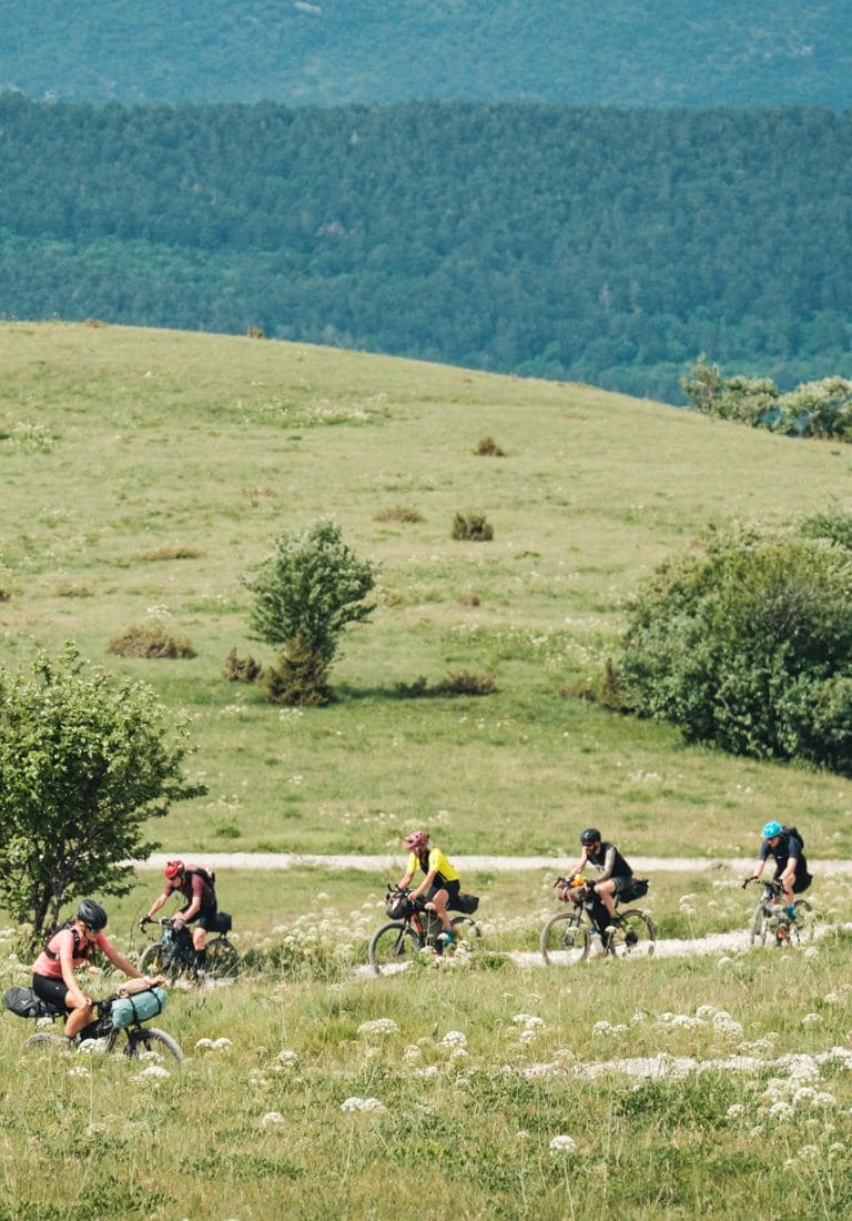
[[[249,338],[4,324],[0,369],[4,664],[73,640],[189,712],[209,791],[150,828],[165,851],[402,866],[424,825],[450,857],[553,857],[465,877],[493,954],[382,979],[361,968],[392,872],[220,871],[247,969],[172,993],[159,1024],[182,1070],[33,1056],[0,1020],[0,1219],[848,1215],[847,879],[818,875],[831,932],[807,951],[572,969],[500,951],[535,950],[588,823],[629,857],[707,860],[652,878],[664,938],[745,927],[757,896],[713,866],[751,858],[769,817],[812,857],[852,855],[848,780],[581,698],[664,556],[709,523],[848,507],[852,449]],[[504,455],[475,453],[483,437]],[[493,541],[454,541],[458,512]],[[275,707],[223,678],[232,648],[272,659],[240,574],[322,515],[381,565],[376,610],[345,636],[334,703]],[[195,656],[117,657],[131,626]],[[461,670],[496,692],[417,695]],[[107,904],[128,952],[157,890],[140,873]],[[4,987],[26,982],[15,930],[2,944]]]

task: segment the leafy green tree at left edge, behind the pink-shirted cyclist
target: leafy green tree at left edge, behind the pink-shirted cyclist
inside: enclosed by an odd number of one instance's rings
[[[0,668],[0,901],[35,945],[62,905],[122,895],[149,818],[205,791],[182,774],[186,725],[153,691],[81,661],[72,643],[29,673]]]

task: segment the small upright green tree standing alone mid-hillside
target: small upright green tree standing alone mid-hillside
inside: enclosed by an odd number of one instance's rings
[[[375,606],[366,598],[375,568],[358,559],[341,527],[323,518],[301,534],[284,534],[243,584],[255,595],[254,634],[281,651],[267,673],[277,703],[325,703],[327,674],[349,623],[364,623]]]

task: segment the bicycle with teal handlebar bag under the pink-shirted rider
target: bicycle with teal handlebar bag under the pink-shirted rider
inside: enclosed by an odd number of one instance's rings
[[[137,994],[133,1000],[139,1002],[140,995],[144,994]],[[32,988],[10,988],[2,1000],[6,1009],[16,1017],[35,1021],[50,1018],[52,1022],[63,1022],[67,1017],[65,1009],[59,1009],[42,1000]],[[161,1010],[165,998],[159,1000],[157,1007],[153,1009],[148,1017],[138,1012],[138,1009],[143,1007],[140,1004],[131,1004],[128,1010],[127,1000],[128,998],[121,996],[118,993],[104,996],[95,1001],[95,1018],[84,1026],[73,1039],[68,1039],[63,1034],[52,1034],[49,1031],[37,1031],[35,1034],[31,1034],[26,1039],[24,1049],[27,1051],[39,1048],[65,1050],[74,1048],[79,1050],[85,1043],[94,1040],[99,1044],[98,1050],[110,1053],[118,1046],[120,1035],[123,1032],[126,1035],[126,1043],[122,1046],[125,1056],[138,1060],[146,1053],[156,1054],[162,1050],[167,1051],[175,1060],[182,1061],[184,1055],[181,1044],[171,1034],[166,1034],[165,1031],[160,1031],[155,1026],[144,1026],[144,1022]]]

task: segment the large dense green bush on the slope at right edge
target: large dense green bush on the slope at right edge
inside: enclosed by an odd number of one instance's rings
[[[852,774],[852,556],[801,530],[710,531],[640,592],[614,673],[625,711],[690,741]]]

